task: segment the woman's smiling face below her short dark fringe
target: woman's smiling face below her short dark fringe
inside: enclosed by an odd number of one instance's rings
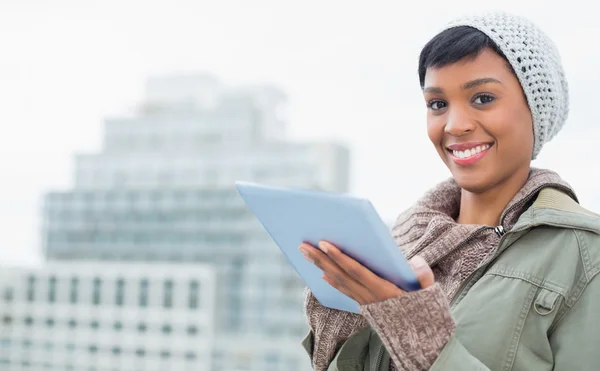
[[[429,68],[424,85],[427,133],[463,189],[482,193],[529,171],[531,112],[502,57],[485,49],[475,59]]]

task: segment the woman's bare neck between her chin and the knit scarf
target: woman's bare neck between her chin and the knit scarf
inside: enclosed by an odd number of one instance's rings
[[[508,203],[525,185],[529,169],[519,170],[510,178],[482,193],[461,190],[459,224],[497,226]]]

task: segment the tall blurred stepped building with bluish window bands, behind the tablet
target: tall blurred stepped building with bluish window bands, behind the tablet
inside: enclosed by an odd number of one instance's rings
[[[209,264],[213,370],[308,369],[303,283],[233,183],[346,192],[349,153],[287,140],[285,112],[273,87],[151,78],[136,115],[106,120],[103,150],[76,156],[74,189],[46,196],[47,258]]]

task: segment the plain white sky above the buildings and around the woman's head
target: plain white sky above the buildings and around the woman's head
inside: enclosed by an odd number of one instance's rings
[[[153,73],[280,86],[290,136],[346,141],[352,191],[395,218],[447,176],[426,137],[419,50],[445,22],[491,3],[0,0],[0,262],[38,260],[42,194],[70,186],[73,153],[98,151],[103,118],[134,106]],[[550,34],[570,81],[570,119],[534,166],[558,171],[598,210],[592,3],[501,3]]]

